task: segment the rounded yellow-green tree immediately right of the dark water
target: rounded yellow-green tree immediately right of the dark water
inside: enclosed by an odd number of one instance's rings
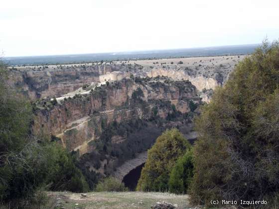
[[[176,128],[166,130],[148,150],[142,168],[138,191],[167,191],[169,175],[176,160],[190,148],[189,142]]]

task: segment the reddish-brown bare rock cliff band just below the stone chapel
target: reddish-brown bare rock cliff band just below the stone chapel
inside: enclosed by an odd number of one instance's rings
[[[165,84],[122,80],[96,88],[89,94],[62,100],[54,106],[47,106],[47,100],[40,101],[33,129],[35,133],[50,133],[60,138],[69,151],[79,150],[84,154],[94,149],[88,144],[100,136],[102,126],[113,121],[148,119],[154,111],[165,118],[172,108],[186,113],[190,111],[190,100],[200,99],[195,87],[187,81]],[[121,143],[121,140],[117,136],[112,138],[114,143]]]

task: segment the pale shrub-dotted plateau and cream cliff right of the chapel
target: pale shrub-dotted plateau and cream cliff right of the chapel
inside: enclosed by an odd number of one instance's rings
[[[191,57],[159,60],[138,60],[129,71],[136,76],[167,76],[189,80],[198,91],[214,90],[224,85],[230,73],[245,56]]]

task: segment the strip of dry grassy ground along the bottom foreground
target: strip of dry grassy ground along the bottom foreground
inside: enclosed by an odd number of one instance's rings
[[[143,192],[48,192],[53,209],[150,209],[156,202],[177,204],[189,209],[187,195]],[[86,197],[85,197],[86,196]]]

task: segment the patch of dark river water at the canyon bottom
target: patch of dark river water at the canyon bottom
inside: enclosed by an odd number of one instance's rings
[[[136,190],[136,187],[137,187],[137,184],[139,181],[139,177],[140,177],[140,173],[141,173],[141,169],[143,168],[144,164],[145,163],[142,163],[138,167],[134,168],[123,178],[123,183],[125,184],[125,187],[128,187],[131,191]]]

